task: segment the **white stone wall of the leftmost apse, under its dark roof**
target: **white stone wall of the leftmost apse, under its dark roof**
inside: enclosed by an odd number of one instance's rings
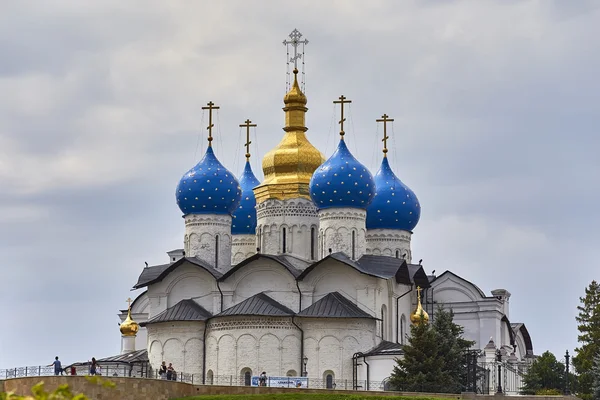
[[[148,329],[148,358],[157,369],[165,361],[178,372],[202,376],[204,322],[164,322]]]

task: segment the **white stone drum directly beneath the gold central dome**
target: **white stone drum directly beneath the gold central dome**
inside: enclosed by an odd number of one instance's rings
[[[259,247],[261,253],[289,253],[305,260],[318,258],[319,216],[312,201],[269,199],[257,204],[256,214],[255,247]],[[284,229],[285,250],[283,249]]]

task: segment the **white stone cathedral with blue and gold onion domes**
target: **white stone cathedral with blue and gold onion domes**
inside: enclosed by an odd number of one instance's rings
[[[152,369],[166,361],[206,384],[248,384],[265,371],[356,387],[385,382],[410,325],[431,321],[441,305],[454,311],[482,357],[493,360],[500,350],[531,359],[531,337],[510,320],[507,290],[486,294],[450,271],[435,276],[413,261],[421,204],[388,162],[392,120],[378,120],[384,140],[373,175],[346,145],[349,101],[341,96],[339,143],[323,155],[307,135],[297,68],[292,77],[283,137],[262,159],[262,182],[248,146],[239,179],[217,159],[218,107],[203,107],[206,152],[175,193],[183,248],[141,271],[133,288],[143,292],[119,313],[122,354],[147,351]]]

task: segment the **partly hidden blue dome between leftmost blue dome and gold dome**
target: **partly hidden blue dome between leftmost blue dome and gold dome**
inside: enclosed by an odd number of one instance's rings
[[[254,235],[256,233],[256,198],[253,188],[260,185],[260,181],[254,176],[250,162],[246,161],[244,172],[240,178],[242,187],[242,201],[233,213],[231,221],[231,233],[233,235]]]

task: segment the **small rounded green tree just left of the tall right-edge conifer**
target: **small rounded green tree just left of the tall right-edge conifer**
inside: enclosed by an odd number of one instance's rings
[[[548,393],[554,389],[563,393],[565,388],[565,365],[554,354],[544,352],[535,359],[523,377],[521,394]]]

